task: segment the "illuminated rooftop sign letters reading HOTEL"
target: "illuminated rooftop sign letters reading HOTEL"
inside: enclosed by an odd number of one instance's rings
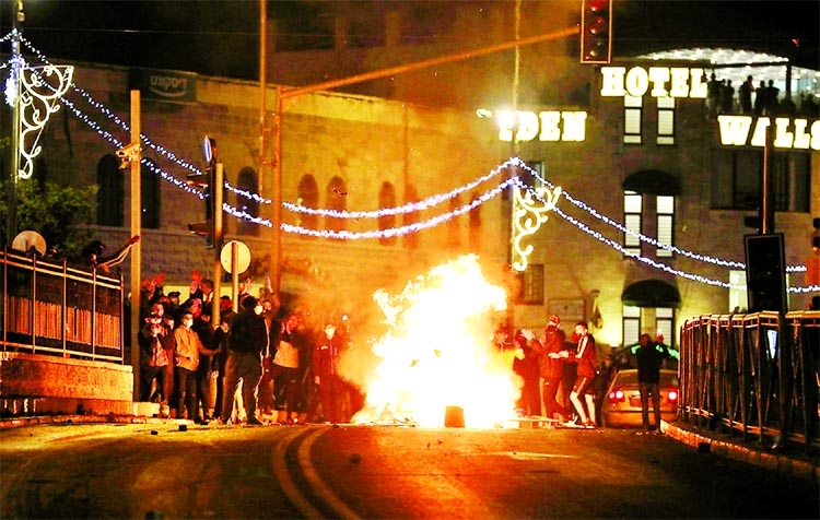
[[[605,97],[706,97],[703,69],[684,67],[601,67],[600,95]]]

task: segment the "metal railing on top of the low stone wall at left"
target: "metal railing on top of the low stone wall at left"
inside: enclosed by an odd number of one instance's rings
[[[0,251],[0,350],[124,363],[122,280]]]

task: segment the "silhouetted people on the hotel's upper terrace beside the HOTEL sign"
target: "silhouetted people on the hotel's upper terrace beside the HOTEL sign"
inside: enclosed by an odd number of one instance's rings
[[[820,117],[820,105],[811,93],[800,93],[798,103],[795,103],[788,93],[781,97],[780,88],[773,80],[761,80],[755,85],[753,78],[749,75],[736,88],[731,80],[718,80],[714,72],[706,82],[706,108],[712,118],[725,114]]]

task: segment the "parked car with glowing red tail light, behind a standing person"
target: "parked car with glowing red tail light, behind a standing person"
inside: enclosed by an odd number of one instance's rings
[[[660,417],[673,421],[678,416],[678,394],[680,382],[677,370],[660,370]],[[643,427],[641,417],[641,391],[637,386],[637,370],[620,370],[612,378],[607,395],[604,398],[601,415],[604,426],[608,427]],[[655,424],[649,398],[649,424]]]

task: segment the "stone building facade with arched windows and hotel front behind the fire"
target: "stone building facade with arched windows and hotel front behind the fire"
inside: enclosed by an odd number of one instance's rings
[[[305,44],[312,50],[272,38],[268,106],[276,105],[276,85],[312,85],[514,39],[518,24],[506,2],[504,9],[461,3],[475,9],[447,10],[435,2],[429,10],[323,13],[312,20],[330,31],[320,43]],[[526,5],[536,11],[524,13],[522,38],[559,32],[575,16],[575,2]],[[370,20],[376,14],[377,22]],[[276,36],[284,21],[272,25]],[[454,34],[459,37],[445,37]],[[589,321],[604,345],[634,343],[645,331],[661,331],[675,344],[684,319],[745,310],[745,235],[757,234],[746,218],[758,215],[763,149],[752,138],[729,144],[728,127],[746,123],[710,117],[703,94],[708,63],[616,57],[610,66],[593,67],[578,63],[576,49],[577,38],[557,37],[517,52],[460,57],[289,99],[281,126],[284,202],[349,212],[435,196],[441,203],[408,215],[344,222],[285,209],[282,222],[291,226],[375,235],[284,233],[282,291],[321,299],[332,311],[362,310],[376,288],[401,288],[425,269],[472,252],[493,280],[518,293],[516,327],[540,329],[546,315],[559,314],[567,323]],[[75,66],[78,88],[66,96],[73,105],[45,130],[40,172],[97,184],[94,233],[107,244],[124,243],[129,174],[119,169],[115,152],[129,141],[122,121],[129,92],[139,87],[148,139],[143,275],[165,273],[166,284],[181,287],[192,270],[212,275],[213,251],[187,228],[202,218],[203,203],[185,185],[188,174],[204,166],[200,147],[209,135],[235,188],[226,191],[227,204],[251,217],[226,215],[226,239],[249,245],[254,260],[247,274],[261,285],[276,257],[269,199],[277,180],[260,166],[258,84]],[[517,126],[511,123],[513,108]],[[811,218],[820,213],[820,126],[799,115],[787,119],[782,132],[803,132],[809,141],[782,142],[773,152],[772,231],[783,234],[785,264],[805,265]],[[542,177],[569,196],[525,240],[534,249],[527,269],[514,275],[517,284],[507,271],[511,198],[499,194],[459,210],[511,175],[511,168],[499,169],[511,156],[526,162],[515,169],[523,181],[539,187]],[[482,176],[489,178],[454,191]],[[418,233],[377,235],[450,212],[458,214]],[[122,272],[127,269],[125,263]],[[787,280],[797,288],[788,293],[789,309],[806,308],[812,293],[801,289],[810,286],[805,273],[792,270]]]

